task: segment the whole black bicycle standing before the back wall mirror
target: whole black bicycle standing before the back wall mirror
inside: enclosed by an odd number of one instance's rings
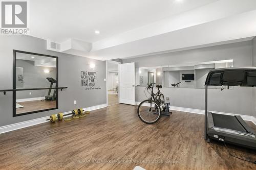
[[[146,124],[154,124],[160,119],[161,115],[169,116],[172,113],[169,112],[169,103],[164,103],[164,95],[159,90],[162,85],[156,85],[156,88],[158,88],[156,94],[153,92],[153,85],[154,83],[150,83],[145,88],[145,95],[147,91],[151,96],[148,100],[142,101],[137,110],[139,118]]]

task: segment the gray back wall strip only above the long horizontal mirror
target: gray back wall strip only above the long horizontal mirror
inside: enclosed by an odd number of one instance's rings
[[[135,62],[135,67],[175,65],[233,59],[234,66],[251,65],[251,41],[197,48],[181,52],[123,59],[123,63]]]

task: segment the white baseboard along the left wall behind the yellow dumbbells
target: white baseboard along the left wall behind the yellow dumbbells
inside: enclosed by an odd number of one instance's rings
[[[88,110],[92,111],[92,110],[97,110],[97,109],[101,109],[101,108],[104,108],[104,107],[106,107],[106,104],[87,107],[87,108],[83,108],[83,109],[86,110],[86,111],[88,111]],[[67,113],[70,113],[70,112],[71,111],[65,112],[63,114],[67,114]],[[49,116],[40,117],[40,118],[36,118],[36,119],[33,119],[33,120],[28,120],[28,121],[20,122],[20,123],[16,123],[16,124],[2,126],[2,127],[0,127],[0,134],[10,132],[10,131],[14,131],[14,130],[17,130],[17,129],[22,129],[22,128],[26,128],[26,127],[30,127],[30,126],[34,126],[34,125],[49,122],[49,121],[46,120],[46,119],[49,118]],[[64,116],[64,117],[67,117],[67,116]]]

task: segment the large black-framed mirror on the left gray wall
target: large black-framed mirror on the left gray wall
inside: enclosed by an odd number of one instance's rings
[[[58,57],[13,50],[13,117],[58,109],[57,87]]]

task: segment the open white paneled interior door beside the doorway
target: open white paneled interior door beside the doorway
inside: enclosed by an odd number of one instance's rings
[[[135,63],[119,64],[119,103],[135,105]]]

